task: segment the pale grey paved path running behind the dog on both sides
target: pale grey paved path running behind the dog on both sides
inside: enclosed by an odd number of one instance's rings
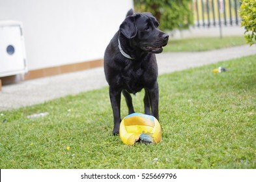
[[[186,70],[224,60],[255,55],[256,47],[242,45],[204,52],[162,53],[156,55],[159,74]],[[44,103],[107,86],[103,68],[66,73],[2,87],[0,111]]]

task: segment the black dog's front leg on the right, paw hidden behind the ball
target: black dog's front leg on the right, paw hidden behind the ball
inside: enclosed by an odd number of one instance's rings
[[[152,88],[147,89],[147,94],[149,96],[149,103],[150,103],[152,115],[159,121],[159,114],[158,114],[159,92],[158,92],[157,82]]]

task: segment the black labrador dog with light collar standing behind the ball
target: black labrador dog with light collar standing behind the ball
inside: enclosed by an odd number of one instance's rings
[[[145,114],[158,116],[158,66],[156,53],[162,53],[169,36],[158,29],[158,21],[150,13],[134,14],[129,10],[126,18],[107,45],[104,72],[109,84],[109,97],[113,109],[113,135],[119,134],[121,123],[121,92],[126,99],[129,114],[134,113],[132,97],[145,89]]]

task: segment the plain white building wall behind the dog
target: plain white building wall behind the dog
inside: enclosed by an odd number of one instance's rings
[[[132,0],[0,0],[0,21],[23,22],[28,68],[36,70],[102,59],[132,7]]]

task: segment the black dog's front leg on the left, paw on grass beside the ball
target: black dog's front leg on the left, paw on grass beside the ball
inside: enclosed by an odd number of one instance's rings
[[[121,103],[121,90],[116,90],[109,86],[109,98],[111,102],[111,107],[113,110],[114,117],[114,129],[113,135],[119,134],[119,127],[121,123],[121,115],[120,115],[120,103]]]

